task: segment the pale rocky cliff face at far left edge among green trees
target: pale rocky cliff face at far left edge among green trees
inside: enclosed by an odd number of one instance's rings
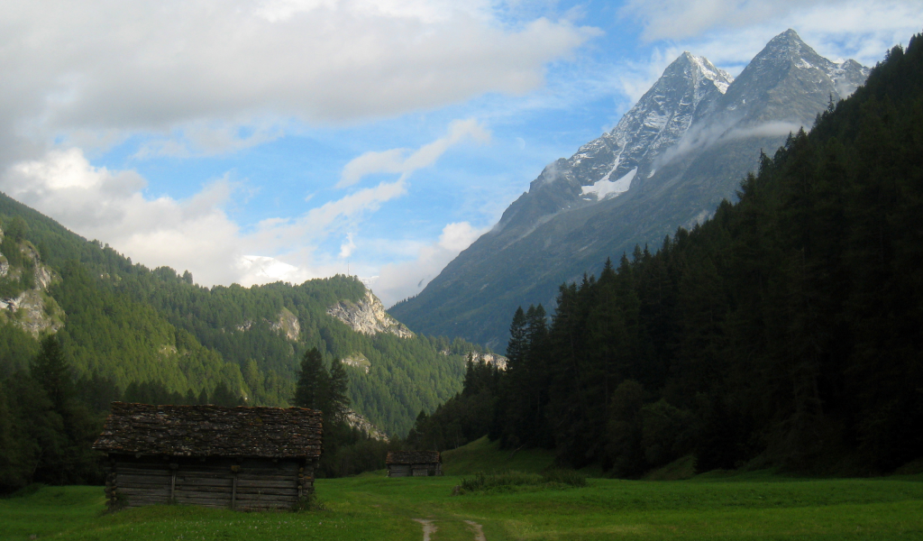
[[[64,325],[65,313],[48,295],[48,287],[59,278],[30,243],[10,244],[5,244],[6,251],[18,253],[0,253],[0,323],[10,321],[36,338],[54,334]]]

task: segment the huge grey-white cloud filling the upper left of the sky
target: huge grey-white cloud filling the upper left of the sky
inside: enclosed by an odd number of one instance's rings
[[[289,119],[519,94],[597,32],[495,15],[489,0],[12,0],[0,21],[0,166],[88,132],[160,134],[139,156],[209,154],[276,137]]]

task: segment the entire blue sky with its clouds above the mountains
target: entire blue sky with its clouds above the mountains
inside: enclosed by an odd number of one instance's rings
[[[204,285],[415,295],[683,50],[873,65],[910,0],[13,2],[0,189]]]

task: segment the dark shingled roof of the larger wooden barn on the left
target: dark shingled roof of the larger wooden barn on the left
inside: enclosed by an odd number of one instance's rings
[[[321,413],[306,408],[112,404],[98,451],[169,456],[318,458]]]

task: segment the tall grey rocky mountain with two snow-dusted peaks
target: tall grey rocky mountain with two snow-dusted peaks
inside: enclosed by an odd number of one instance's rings
[[[761,151],[812,126],[868,75],[823,58],[795,30],[736,79],[683,53],[611,132],[546,166],[491,231],[389,311],[414,331],[503,349],[516,307],[553,307],[561,283],[704,221]]]

